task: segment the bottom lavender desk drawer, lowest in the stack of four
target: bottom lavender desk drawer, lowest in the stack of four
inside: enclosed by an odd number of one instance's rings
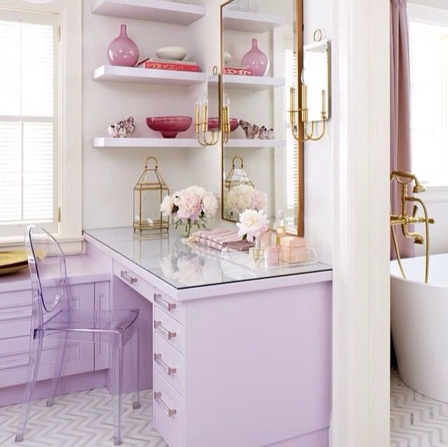
[[[154,427],[170,447],[185,445],[185,408],[182,396],[159,373],[154,373]]]

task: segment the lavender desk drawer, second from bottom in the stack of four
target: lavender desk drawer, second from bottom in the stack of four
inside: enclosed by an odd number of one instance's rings
[[[185,359],[175,348],[154,334],[154,371],[182,396],[185,395]]]

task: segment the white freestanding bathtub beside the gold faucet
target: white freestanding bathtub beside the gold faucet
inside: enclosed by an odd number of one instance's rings
[[[403,259],[407,279],[391,262],[391,325],[403,382],[421,394],[448,402],[448,254]]]

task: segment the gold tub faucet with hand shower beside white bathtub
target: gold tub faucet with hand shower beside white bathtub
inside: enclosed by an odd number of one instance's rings
[[[395,249],[395,254],[397,255],[398,266],[400,266],[402,277],[405,276],[405,270],[403,269],[400,257],[400,249],[398,248],[397,236],[395,235],[394,226],[400,225],[401,231],[405,238],[414,239],[414,244],[425,245],[426,249],[426,262],[425,262],[425,282],[428,282],[429,275],[429,224],[434,224],[434,219],[428,217],[428,210],[423,200],[414,197],[414,194],[423,193],[425,191],[424,186],[421,185],[419,179],[414,174],[404,171],[393,171],[391,172],[391,183],[396,181],[401,185],[401,214],[391,213],[391,233],[393,240],[393,247]],[[412,188],[412,195],[408,195],[409,185],[414,184]],[[412,208],[412,214],[407,214],[407,203],[414,202],[414,207]],[[419,205],[423,209],[423,217],[417,217],[417,212],[419,211]],[[415,232],[409,231],[409,225],[414,224],[425,224],[425,237],[423,235]]]

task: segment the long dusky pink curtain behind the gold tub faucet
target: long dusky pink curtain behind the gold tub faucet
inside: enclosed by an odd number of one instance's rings
[[[391,0],[391,171],[412,172],[411,160],[411,80],[409,70],[409,31],[407,22],[407,0]],[[400,212],[401,188],[391,188],[391,207]],[[409,205],[408,212],[410,212]],[[400,254],[406,258],[414,256],[414,242],[398,236]],[[391,248],[391,256],[395,251]]]

